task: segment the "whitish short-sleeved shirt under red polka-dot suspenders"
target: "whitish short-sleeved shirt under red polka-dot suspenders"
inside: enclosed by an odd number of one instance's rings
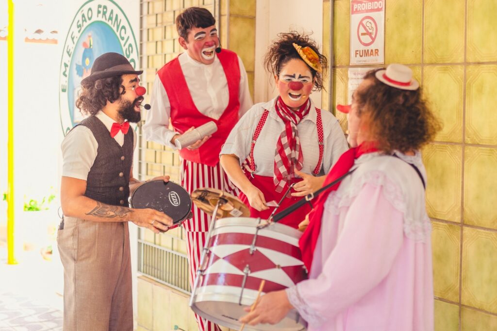
[[[253,133],[262,113],[267,109],[269,110],[269,114],[255,143],[253,159],[255,161],[255,174],[272,177],[274,174],[276,144],[281,132],[285,129],[285,124],[274,109],[275,102],[276,98],[265,103],[262,102],[253,105],[237,125],[235,125],[226,143],[223,145],[220,154],[234,154],[240,159],[240,163],[242,164],[247,159],[248,154],[250,154]],[[297,125],[300,151],[304,157],[301,171],[309,174],[313,173],[319,160],[319,139],[316,118],[316,108],[314,102],[311,100],[309,114]],[[348,145],[343,130],[333,114],[329,111],[321,110],[321,119],[323,122],[323,140],[325,144],[323,163],[320,169],[320,175],[323,175],[328,173],[340,155],[348,150]]]

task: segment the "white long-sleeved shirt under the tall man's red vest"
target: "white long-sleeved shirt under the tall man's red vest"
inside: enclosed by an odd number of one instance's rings
[[[228,81],[218,57],[216,56],[210,65],[193,60],[187,53],[180,54],[178,60],[197,109],[206,116],[219,119],[228,106],[230,95]],[[238,63],[240,65],[239,113],[242,116],[253,103],[248,90],[247,73],[240,57]],[[142,127],[143,136],[148,141],[176,149],[176,146],[171,144],[171,139],[178,133],[169,129],[171,106],[166,89],[158,75],[152,87],[150,106],[145,125]]]

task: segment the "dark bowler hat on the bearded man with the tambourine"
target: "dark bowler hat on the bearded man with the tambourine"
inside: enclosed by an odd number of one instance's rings
[[[104,53],[95,59],[91,67],[90,76],[81,83],[89,83],[101,78],[108,78],[122,75],[141,75],[143,70],[134,70],[128,59],[119,53]]]

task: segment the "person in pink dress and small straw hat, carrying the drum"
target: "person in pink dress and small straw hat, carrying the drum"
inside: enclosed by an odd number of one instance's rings
[[[309,279],[263,295],[241,319],[274,324],[291,309],[308,330],[433,330],[430,220],[419,149],[438,130],[412,71],[369,72],[353,94],[345,152],[300,240]]]

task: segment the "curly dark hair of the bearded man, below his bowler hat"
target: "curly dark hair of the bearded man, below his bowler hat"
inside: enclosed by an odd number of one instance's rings
[[[83,83],[76,107],[83,114],[95,115],[107,104],[107,100],[114,102],[121,97],[122,82],[122,76],[114,76]]]

